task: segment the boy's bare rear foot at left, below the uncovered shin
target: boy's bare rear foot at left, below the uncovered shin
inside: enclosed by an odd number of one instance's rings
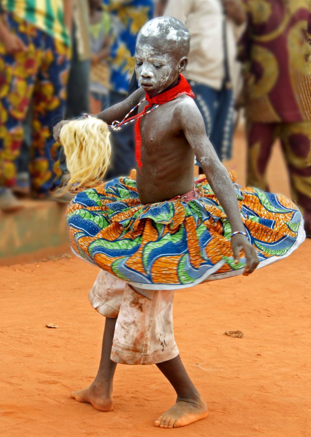
[[[93,382],[89,387],[78,392],[72,392],[71,397],[78,402],[89,402],[99,411],[111,411],[113,401],[105,394],[105,389],[100,384]]]

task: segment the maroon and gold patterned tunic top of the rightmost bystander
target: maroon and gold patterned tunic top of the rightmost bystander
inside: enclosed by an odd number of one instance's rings
[[[246,117],[252,122],[310,119],[308,0],[242,0],[247,25],[238,44]]]

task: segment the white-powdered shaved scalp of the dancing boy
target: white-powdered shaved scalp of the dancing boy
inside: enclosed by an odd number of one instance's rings
[[[168,50],[178,57],[188,56],[190,48],[190,33],[187,27],[173,17],[157,17],[148,21],[138,34],[137,41],[161,41]]]

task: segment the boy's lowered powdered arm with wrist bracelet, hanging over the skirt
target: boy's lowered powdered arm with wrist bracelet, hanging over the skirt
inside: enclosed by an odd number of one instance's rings
[[[187,100],[178,107],[178,119],[195,156],[200,161],[208,183],[229,219],[232,232],[245,232],[241,220],[238,203],[235,197],[232,181],[227,169],[220,162],[216,152],[207,138],[202,116],[193,100]],[[248,238],[242,234],[235,234],[231,240],[234,258],[238,261],[240,251],[243,250],[247,259],[245,275],[253,272],[259,263],[256,252]]]

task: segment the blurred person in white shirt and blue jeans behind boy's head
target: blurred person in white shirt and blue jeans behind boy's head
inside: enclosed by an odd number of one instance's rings
[[[163,1],[159,1],[160,8]],[[238,0],[168,0],[164,15],[190,31],[190,81],[206,133],[221,160],[231,158],[234,124],[233,69],[235,27],[245,21]]]

